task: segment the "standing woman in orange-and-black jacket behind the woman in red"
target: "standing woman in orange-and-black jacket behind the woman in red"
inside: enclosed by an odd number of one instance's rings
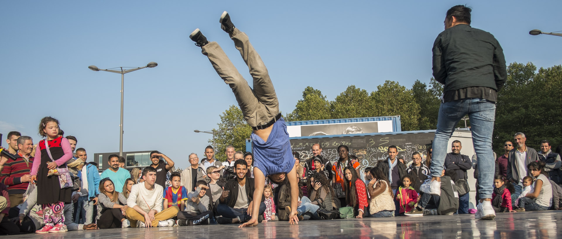
[[[352,166],[355,169],[357,175],[359,175],[359,168],[361,164],[357,159],[351,159],[349,155],[350,149],[347,148],[346,145],[340,145],[338,147],[338,154],[339,159],[334,162],[332,166],[332,186],[336,189],[336,194],[339,200],[342,202],[342,205],[347,205],[345,192],[343,191],[343,178],[345,178],[343,174],[343,169],[347,166]]]

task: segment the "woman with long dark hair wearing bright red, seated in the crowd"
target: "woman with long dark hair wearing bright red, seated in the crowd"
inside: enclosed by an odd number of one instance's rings
[[[345,175],[343,188],[346,192],[347,205],[355,208],[356,218],[363,218],[365,209],[368,207],[365,183],[359,178],[352,166],[343,169],[343,173]]]

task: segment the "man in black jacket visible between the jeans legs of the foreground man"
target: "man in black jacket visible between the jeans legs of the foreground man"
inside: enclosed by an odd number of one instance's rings
[[[472,160],[468,155],[460,154],[460,150],[463,148],[459,140],[453,141],[451,144],[451,153],[448,153],[445,157],[445,168],[455,171],[455,178],[452,180],[456,181],[461,178],[468,180],[468,174],[466,171],[472,168]],[[468,201],[470,199],[469,194],[465,194],[459,197],[459,214],[468,213]]]

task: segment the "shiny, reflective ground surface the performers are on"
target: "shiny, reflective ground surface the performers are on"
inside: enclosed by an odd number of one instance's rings
[[[495,220],[475,220],[474,215],[364,218],[310,220],[293,226],[288,222],[268,222],[252,228],[211,225],[99,229],[2,238],[562,238],[562,211],[498,213]]]

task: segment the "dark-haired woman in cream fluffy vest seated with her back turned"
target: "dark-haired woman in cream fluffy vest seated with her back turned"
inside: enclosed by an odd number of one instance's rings
[[[367,185],[367,190],[371,196],[369,203],[369,217],[392,217],[396,205],[394,204],[392,189],[388,178],[380,168],[371,169],[373,179]]]

